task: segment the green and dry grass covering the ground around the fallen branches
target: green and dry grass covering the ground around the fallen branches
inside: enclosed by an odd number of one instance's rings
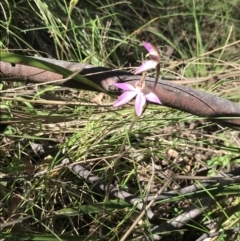
[[[145,59],[141,42],[149,41],[160,49],[163,78],[224,73],[220,81],[194,87],[239,103],[239,12],[238,0],[3,0],[0,48],[132,71]],[[146,193],[154,195],[171,172],[213,176],[239,166],[239,133],[204,118],[149,106],[128,136],[132,106],[116,111],[108,96],[98,106],[90,102],[94,94],[86,91],[35,86],[34,92],[32,86],[4,81],[0,87],[9,89],[9,96],[19,87],[30,91],[2,100],[0,105],[1,118],[12,123],[1,133],[0,175],[17,177],[0,181],[0,222],[31,216],[23,224],[0,228],[0,238],[120,240],[139,214],[129,203],[112,197],[106,201],[106,194],[96,191],[95,185],[58,169],[59,153],[34,156],[31,145],[35,142],[57,146],[107,182],[127,136],[130,151],[115,170],[113,183],[141,199]],[[45,94],[61,98],[64,105],[46,99]],[[43,100],[44,104],[37,102]],[[157,171],[149,183],[152,157]],[[21,178],[42,171],[45,175],[39,178]],[[172,181],[166,191],[191,184],[189,180]],[[238,183],[220,189],[213,185],[200,193],[158,201],[152,207],[154,220],[144,216],[129,240],[154,240],[151,230],[155,225],[177,217],[200,203],[200,198],[211,197],[214,205],[183,231],[159,235],[162,240],[196,240],[210,233],[207,222],[212,222],[218,240],[235,241],[240,238],[231,232],[239,228],[239,188]]]

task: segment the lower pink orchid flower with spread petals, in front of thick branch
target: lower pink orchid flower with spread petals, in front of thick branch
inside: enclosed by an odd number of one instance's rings
[[[144,88],[144,83],[137,81],[135,84],[135,88],[128,83],[115,83],[114,86],[122,89],[124,92],[119,98],[114,102],[113,106],[117,107],[120,105],[124,105],[129,102],[131,99],[136,97],[135,100],[135,110],[138,116],[141,116],[143,107],[146,104],[146,101],[154,102],[157,104],[162,104],[158,97],[150,92],[147,95],[144,95],[142,89]]]

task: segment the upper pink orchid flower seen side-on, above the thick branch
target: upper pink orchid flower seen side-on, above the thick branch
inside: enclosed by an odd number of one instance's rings
[[[140,74],[150,69],[154,69],[160,62],[159,52],[154,46],[148,42],[143,42],[143,46],[148,51],[148,55],[150,56],[151,60],[143,62],[142,65],[136,69],[135,74]]]

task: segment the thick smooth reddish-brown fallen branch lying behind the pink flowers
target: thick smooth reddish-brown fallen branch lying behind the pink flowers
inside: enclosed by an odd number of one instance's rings
[[[134,83],[141,78],[138,75],[133,75],[132,73],[121,70],[112,70],[104,67],[95,67],[87,64],[47,58],[40,59],[64,67],[73,72],[79,72],[79,70],[81,70],[81,75],[87,77],[88,80],[94,82],[109,94],[120,94],[118,92],[116,93],[116,88],[113,89],[114,83],[127,81],[131,85],[134,85]],[[21,63],[21,61],[19,61],[19,64],[15,65],[0,61],[0,66],[1,80],[25,83],[54,83],[55,85],[63,85],[75,89],[95,91],[93,87],[80,83],[75,80],[74,77],[68,79],[68,76],[62,76],[50,71],[26,66],[24,63]],[[56,81],[61,79],[65,80],[62,82]],[[154,78],[147,77],[146,87],[143,92],[147,94],[152,91],[153,84]],[[165,106],[197,116],[206,117],[224,126],[240,129],[240,105],[237,103],[191,87],[164,80],[158,81],[155,93]]]

